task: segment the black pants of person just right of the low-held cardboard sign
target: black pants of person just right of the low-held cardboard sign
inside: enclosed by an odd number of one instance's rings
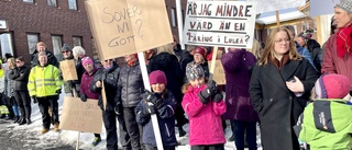
[[[102,122],[107,132],[107,149],[118,150],[117,114],[114,111],[102,111]]]

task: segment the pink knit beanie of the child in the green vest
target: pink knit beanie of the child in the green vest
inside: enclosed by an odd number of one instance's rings
[[[343,74],[323,74],[315,86],[317,99],[342,99],[350,92],[350,80]]]

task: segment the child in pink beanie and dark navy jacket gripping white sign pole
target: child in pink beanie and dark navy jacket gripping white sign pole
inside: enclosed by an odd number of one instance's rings
[[[143,126],[143,143],[146,150],[156,150],[151,115],[156,114],[164,150],[175,150],[175,111],[177,102],[173,93],[166,90],[166,76],[156,70],[150,74],[152,92],[146,91],[143,101],[135,107],[136,122]],[[151,105],[152,103],[153,105]]]

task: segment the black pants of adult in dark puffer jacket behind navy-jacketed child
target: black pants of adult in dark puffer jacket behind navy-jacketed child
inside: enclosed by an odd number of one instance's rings
[[[124,135],[125,132],[130,137],[131,141],[131,147],[133,150],[141,150],[143,148],[143,142],[142,142],[142,126],[139,125],[135,120],[135,107],[124,107],[123,108],[123,119],[124,119],[124,125],[125,128],[120,128],[120,134]],[[124,130],[125,129],[125,130]]]

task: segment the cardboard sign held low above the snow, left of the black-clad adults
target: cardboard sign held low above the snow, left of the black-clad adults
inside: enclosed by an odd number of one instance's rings
[[[65,96],[59,128],[100,134],[102,126],[101,109],[98,100]]]

